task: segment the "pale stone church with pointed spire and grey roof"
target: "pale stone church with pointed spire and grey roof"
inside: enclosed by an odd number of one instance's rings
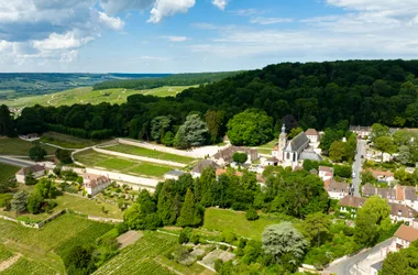
[[[293,168],[301,164],[304,160],[322,161],[322,157],[310,148],[309,143],[311,143],[311,140],[308,139],[305,132],[288,141],[286,127],[283,124],[282,133],[278,136],[278,144],[274,147],[272,155],[283,166],[290,166]]]

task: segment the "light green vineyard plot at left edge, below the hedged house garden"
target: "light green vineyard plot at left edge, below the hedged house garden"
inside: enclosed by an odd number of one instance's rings
[[[22,227],[11,221],[0,220],[0,240],[13,241],[40,252],[48,252],[59,248],[91,224],[108,228],[108,224],[89,221],[76,215],[63,215],[46,223],[40,230]]]

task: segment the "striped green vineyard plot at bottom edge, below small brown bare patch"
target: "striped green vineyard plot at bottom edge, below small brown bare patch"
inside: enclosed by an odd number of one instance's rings
[[[176,243],[177,238],[157,232],[145,232],[136,243],[122,250],[95,275],[173,275],[169,270],[158,264],[155,258],[167,253]]]

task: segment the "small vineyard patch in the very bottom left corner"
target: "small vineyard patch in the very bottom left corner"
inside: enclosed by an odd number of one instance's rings
[[[28,260],[25,257],[20,257],[18,262],[12,264],[9,268],[0,272],[1,275],[55,275],[56,271],[50,268],[43,263]]]

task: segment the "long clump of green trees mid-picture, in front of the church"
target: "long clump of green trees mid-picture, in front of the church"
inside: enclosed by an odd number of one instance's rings
[[[157,185],[153,196],[143,191],[138,204],[127,210],[125,222],[138,230],[174,224],[198,227],[204,222],[207,207],[260,209],[296,218],[328,211],[330,200],[318,176],[273,166],[263,176],[266,178],[263,188],[255,174],[248,170],[237,176],[231,169],[217,177],[209,167],[200,178],[186,174],[178,180],[168,179]]]

